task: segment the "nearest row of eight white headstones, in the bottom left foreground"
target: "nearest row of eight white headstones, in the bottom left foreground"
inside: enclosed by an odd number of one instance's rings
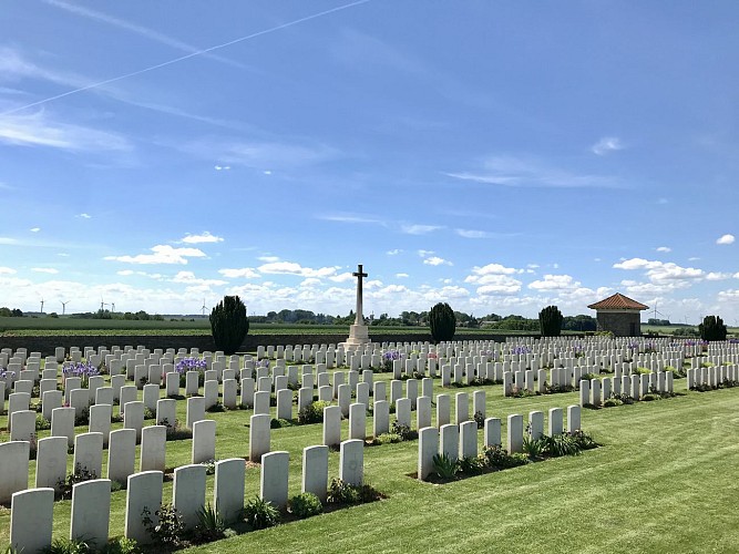
[[[1,448],[1,447],[0,447]],[[28,456],[28,442],[10,442],[6,448]],[[24,451],[24,452],[22,452]],[[329,449],[307,447],[302,451],[301,492],[311,492],[322,502],[328,489]],[[276,451],[260,456],[259,496],[277,507],[288,502],[289,453]],[[363,442],[343,441],[339,453],[339,479],[352,484],[363,482]],[[236,521],[244,507],[246,465],[242,458],[215,463],[213,505],[226,523]],[[144,525],[147,510],[153,523],[163,502],[164,473],[161,470],[142,471],[127,476],[124,536],[142,544],[151,541]],[[205,506],[206,468],[191,464],[174,470],[172,505],[182,516],[185,527],[198,522],[198,511]],[[54,489],[42,486],[16,492],[11,499],[10,544],[19,552],[38,552],[52,542]],[[72,488],[70,538],[84,540],[97,548],[109,538],[111,511],[111,480],[94,479]],[[30,524],[32,522],[32,524]]]

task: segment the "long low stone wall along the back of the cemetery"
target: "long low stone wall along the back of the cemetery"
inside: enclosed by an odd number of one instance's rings
[[[519,335],[517,335],[519,336]],[[531,335],[538,337],[538,334]],[[431,335],[424,334],[406,334],[406,335],[382,335],[371,334],[372,342],[419,342],[431,340]],[[318,335],[318,334],[301,334],[301,335],[247,335],[242,343],[240,351],[253,352],[257,346],[278,346],[278,345],[329,345],[338,343],[347,340],[347,334],[342,335]],[[483,335],[483,334],[460,334],[454,336],[454,340],[495,340],[499,342],[505,341],[502,335]],[[41,352],[41,356],[52,356],[57,347],[64,347],[69,351],[70,347],[79,347],[81,350],[84,347],[104,346],[111,348],[113,346],[143,346],[153,350],[155,348],[198,348],[201,352],[205,350],[214,351],[215,345],[213,337],[209,335],[83,335],[83,336],[51,336],[51,337],[0,337],[0,348],[25,348],[29,352]]]

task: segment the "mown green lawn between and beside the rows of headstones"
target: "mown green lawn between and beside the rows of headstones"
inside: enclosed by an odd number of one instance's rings
[[[374,375],[376,381],[391,378],[392,373]],[[677,392],[686,392],[685,387],[686,379],[675,381]],[[504,398],[502,386],[442,389],[440,379],[434,380],[434,397],[473,390],[486,391],[486,414],[502,420],[503,437],[509,414],[525,418],[532,410],[546,412],[578,402],[577,392]],[[365,481],[386,494],[386,500],[186,552],[735,551],[739,544],[738,407],[739,388],[732,388],[584,409],[582,428],[601,448],[440,485],[409,476],[418,468],[418,440],[366,447]],[[216,421],[217,459],[248,455],[250,414],[252,410],[206,414]],[[184,401],[177,402],[177,418],[185,421]],[[435,421],[435,413],[433,418]],[[369,437],[371,417],[366,423]],[[112,429],[121,427],[114,423]],[[6,416],[0,417],[0,442],[8,441]],[[75,429],[76,433],[85,431],[86,427]],[[320,423],[271,431],[271,451],[290,454],[290,496],[300,492],[302,449],[320,444],[321,432]],[[39,431],[39,438],[48,435],[49,431]],[[347,435],[345,420],[342,437]],[[166,466],[189,463],[191,447],[191,440],[167,441]],[[105,450],[103,466],[106,455]],[[68,472],[71,464],[69,456]],[[331,452],[329,479],[338,476],[338,465],[339,454]],[[29,486],[33,486],[34,472],[35,462],[31,462]],[[246,500],[258,490],[259,469],[247,468]],[[208,476],[207,496],[212,494],[213,476]],[[164,502],[171,497],[172,483],[165,482]],[[111,536],[123,534],[125,499],[125,491],[112,494]],[[9,542],[9,520],[10,511],[0,509],[0,545]],[[57,502],[54,537],[69,536],[69,520],[70,502]]]

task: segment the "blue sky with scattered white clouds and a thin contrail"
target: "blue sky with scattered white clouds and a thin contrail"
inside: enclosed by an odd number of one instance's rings
[[[0,4],[0,306],[739,318],[735,1]],[[645,315],[646,319],[648,316]]]

